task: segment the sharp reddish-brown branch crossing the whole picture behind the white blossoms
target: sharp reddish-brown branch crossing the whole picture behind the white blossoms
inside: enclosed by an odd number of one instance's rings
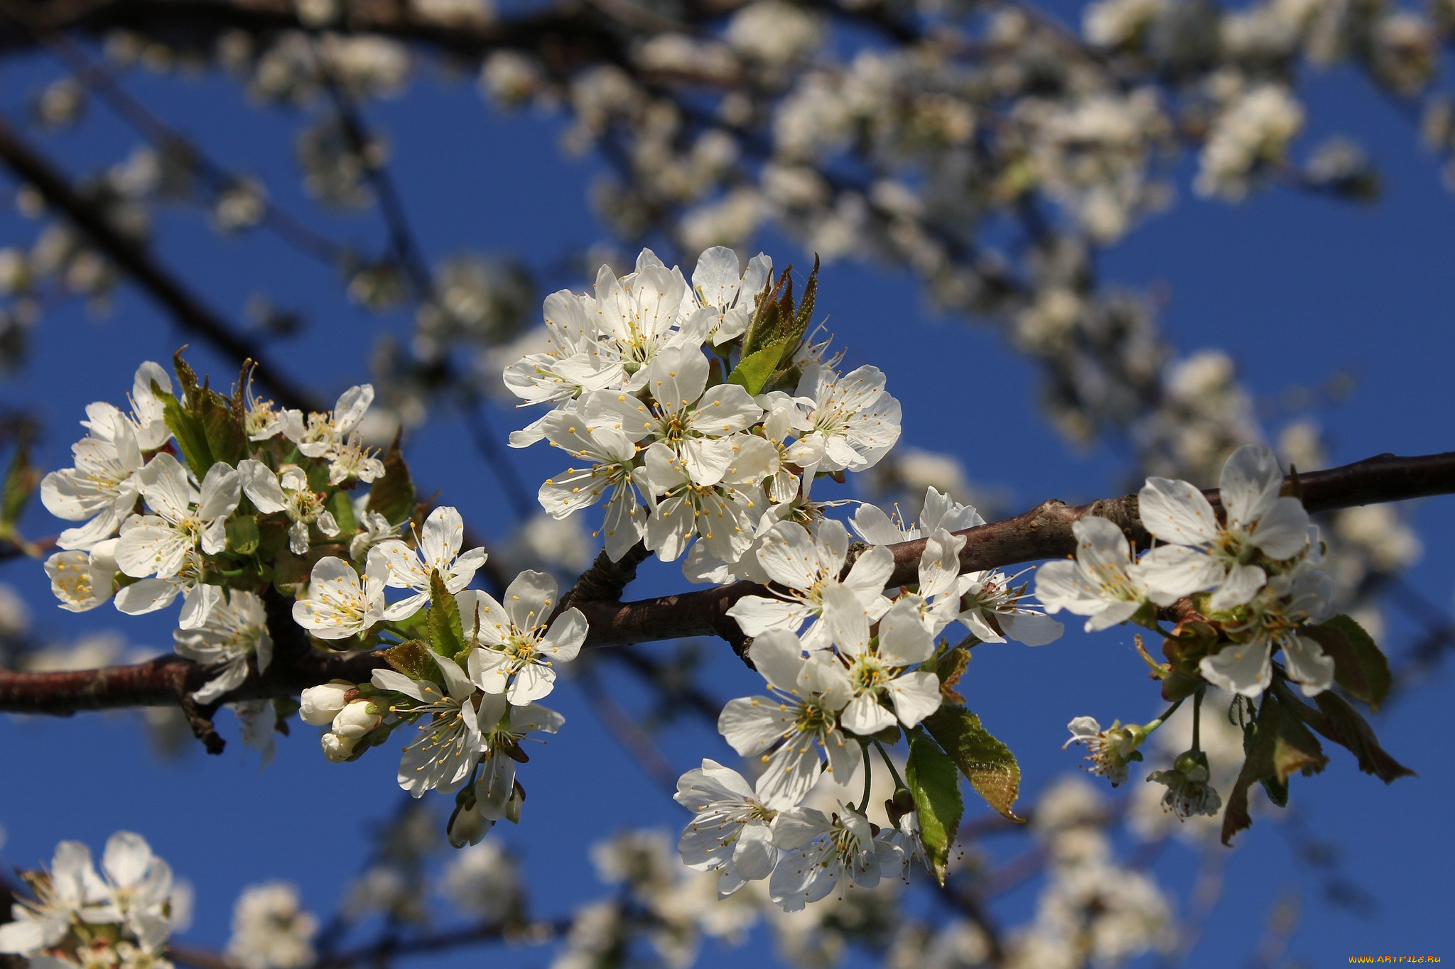
[[[1296,487],[1310,511],[1455,494],[1455,452],[1417,458],[1379,455],[1342,468],[1299,475]],[[1215,490],[1203,494],[1218,504]],[[959,532],[966,538],[960,568],[988,569],[1068,555],[1075,549],[1071,526],[1088,514],[1116,522],[1138,545],[1148,540],[1138,517],[1136,495],[1103,498],[1083,506],[1045,501],[1016,517]],[[924,540],[901,542],[889,548],[895,555],[889,587],[914,581]],[[598,569],[611,571],[598,562],[588,575]],[[634,567],[611,575],[601,588],[624,588],[631,572]],[[595,581],[595,577],[588,581]],[[720,635],[733,641],[741,639],[741,632],[728,616],[728,609],[748,594],[771,594],[771,590],[754,583],[735,583],[631,603],[576,597],[572,604],[586,615],[586,645],[592,646],[695,635]],[[375,654],[323,652],[313,648],[291,622],[281,597],[271,597],[269,613],[275,641],[274,662],[266,674],[249,676],[227,700],[294,696],[304,687],[332,678],[356,683],[384,665]],[[180,657],[68,673],[0,671],[0,710],[68,715],[87,709],[169,706],[183,702],[189,692],[205,681],[207,670]]]

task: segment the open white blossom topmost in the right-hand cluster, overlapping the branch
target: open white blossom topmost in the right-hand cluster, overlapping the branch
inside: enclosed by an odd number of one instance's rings
[[[1212,588],[1212,609],[1241,606],[1267,581],[1264,569],[1250,562],[1254,555],[1289,559],[1308,546],[1308,511],[1298,498],[1279,497],[1283,472],[1267,447],[1244,445],[1232,452],[1218,487],[1227,524],[1186,481],[1148,478],[1138,492],[1142,523],[1168,543],[1141,561],[1157,601]]]

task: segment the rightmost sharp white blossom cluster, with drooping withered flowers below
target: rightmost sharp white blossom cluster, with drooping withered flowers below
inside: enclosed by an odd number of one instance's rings
[[[1164,694],[1173,689],[1168,699],[1176,703],[1196,690],[1195,721],[1203,683],[1241,702],[1261,696],[1276,674],[1304,696],[1317,696],[1334,683],[1334,657],[1314,629],[1334,613],[1333,580],[1320,568],[1324,545],[1318,526],[1296,497],[1282,491],[1277,459],[1259,445],[1240,447],[1224,465],[1218,492],[1222,516],[1192,484],[1148,478],[1138,507],[1154,548],[1138,558],[1113,522],[1087,516],[1072,526],[1078,542],[1074,559],[1040,567],[1036,594],[1049,612],[1087,616],[1087,631],[1131,620],[1164,635],[1171,662],[1154,664],[1155,674],[1164,681]],[[1179,626],[1167,632],[1158,625],[1158,612],[1179,601],[1186,609]],[[1275,665],[1273,655],[1280,651],[1283,662]],[[1078,716],[1069,723],[1068,745],[1084,744],[1090,770],[1120,784],[1128,766],[1142,758],[1141,744],[1176,703],[1144,725],[1115,722],[1103,729],[1094,718]],[[1163,805],[1181,818],[1218,814],[1222,798],[1209,779],[1196,729],[1190,750],[1170,769],[1148,776],[1167,786]]]

